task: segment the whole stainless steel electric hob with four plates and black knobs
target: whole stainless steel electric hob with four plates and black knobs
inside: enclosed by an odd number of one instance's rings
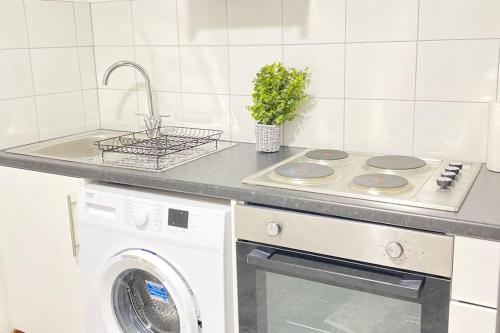
[[[246,184],[458,211],[481,163],[306,150],[243,180]]]

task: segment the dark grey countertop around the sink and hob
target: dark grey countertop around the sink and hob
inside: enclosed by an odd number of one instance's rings
[[[500,174],[485,166],[456,213],[242,184],[246,176],[299,151],[284,147],[279,153],[266,154],[242,143],[161,173],[4,151],[0,152],[0,165],[500,241]]]

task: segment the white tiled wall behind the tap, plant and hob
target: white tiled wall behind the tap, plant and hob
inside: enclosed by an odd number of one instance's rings
[[[3,0],[0,146],[140,128],[141,76],[120,68],[100,83],[123,59],[150,71],[169,122],[252,142],[251,81],[283,61],[309,67],[312,95],[285,144],[482,160],[498,12],[497,0]]]

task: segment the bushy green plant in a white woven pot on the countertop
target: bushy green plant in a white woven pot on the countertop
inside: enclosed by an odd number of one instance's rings
[[[280,125],[291,121],[307,98],[307,68],[286,68],[281,63],[266,65],[253,80],[253,104],[247,106],[255,125],[256,148],[263,152],[280,149]]]

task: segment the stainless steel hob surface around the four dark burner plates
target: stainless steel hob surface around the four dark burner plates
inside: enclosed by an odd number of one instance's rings
[[[247,176],[243,179],[243,183],[456,212],[460,210],[481,169],[481,163],[465,163],[464,170],[459,175],[459,181],[456,181],[447,190],[439,189],[436,179],[441,176],[445,167],[451,162],[448,160],[424,159],[428,165],[422,169],[413,171],[384,172],[379,170],[378,172],[381,173],[400,175],[410,181],[410,190],[406,193],[398,192],[398,195],[394,195],[394,193],[371,193],[372,191],[370,190],[360,191],[356,190],[355,186],[352,186],[352,179],[355,176],[365,174],[370,170],[366,167],[365,161],[370,157],[377,156],[370,154],[352,153],[348,163],[324,164],[329,165],[335,170],[335,181],[325,183],[310,181],[309,183],[301,184],[298,182],[294,183],[293,181],[277,181],[274,177],[271,177],[277,167],[304,160],[304,156],[308,151],[310,150],[300,152]],[[426,171],[423,172],[423,170]]]

